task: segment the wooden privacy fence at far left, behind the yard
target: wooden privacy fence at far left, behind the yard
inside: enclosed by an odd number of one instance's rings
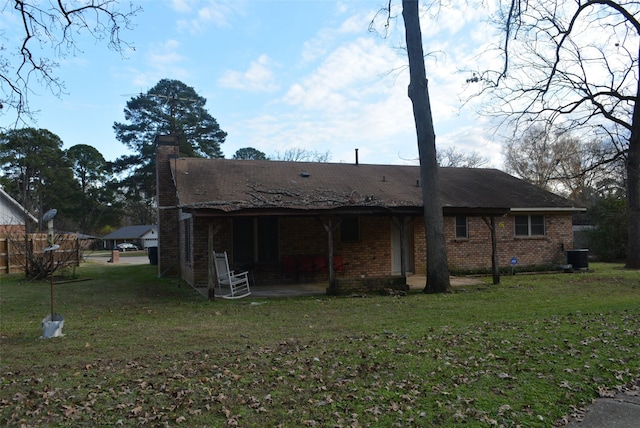
[[[80,264],[81,245],[76,234],[57,234],[60,248],[53,252],[54,261],[64,266]],[[46,233],[0,234],[0,275],[24,272],[28,254],[44,257],[49,246]]]

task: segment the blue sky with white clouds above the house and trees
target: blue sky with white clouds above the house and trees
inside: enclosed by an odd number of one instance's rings
[[[66,85],[60,98],[32,87],[35,127],[59,135],[65,148],[96,147],[107,160],[127,153],[115,139],[126,102],[160,79],[178,79],[207,98],[228,133],[222,151],[254,147],[267,155],[304,148],[331,162],[416,164],[417,143],[400,8],[389,37],[368,31],[383,0],[143,0],[133,31],[135,51],[122,58],[83,37],[82,52],[57,58]],[[399,2],[397,2],[399,3]],[[462,3],[462,2],[461,2]],[[2,10],[10,33],[15,22]],[[466,79],[493,30],[483,11],[441,9],[423,16],[423,39],[438,147],[477,152],[501,168],[501,143],[474,105],[460,101]],[[14,17],[15,18],[15,17]],[[382,27],[384,20],[376,25]],[[11,111],[0,116],[9,126]]]

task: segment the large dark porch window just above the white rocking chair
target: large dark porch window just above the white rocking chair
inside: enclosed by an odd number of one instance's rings
[[[235,263],[278,260],[278,219],[237,217],[233,219],[233,260]]]

